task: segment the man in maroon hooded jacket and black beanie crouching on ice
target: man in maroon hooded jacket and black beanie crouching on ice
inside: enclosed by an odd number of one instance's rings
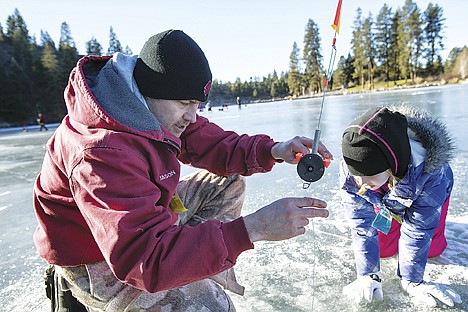
[[[297,163],[313,140],[221,129],[196,114],[211,81],[203,51],[179,30],[149,38],[138,56],[79,60],[34,187],[34,241],[54,265],[54,297],[88,311],[235,311],[220,285],[243,293],[239,254],[328,216],[310,197],[240,216],[243,176]],[[332,157],[322,144],[319,153]],[[180,162],[205,170],[179,179]]]

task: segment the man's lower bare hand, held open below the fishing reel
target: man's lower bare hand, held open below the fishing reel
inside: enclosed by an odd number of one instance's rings
[[[282,198],[244,217],[250,241],[280,241],[305,233],[309,218],[328,217],[327,203],[311,197]]]

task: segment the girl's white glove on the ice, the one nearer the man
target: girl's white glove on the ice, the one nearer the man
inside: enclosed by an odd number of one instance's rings
[[[379,272],[365,276],[359,276],[354,282],[343,287],[343,294],[356,303],[372,302],[375,297],[378,300],[383,300],[382,281],[379,277]]]

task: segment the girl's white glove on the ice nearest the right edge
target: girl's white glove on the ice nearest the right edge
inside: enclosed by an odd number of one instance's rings
[[[459,294],[442,284],[425,281],[413,283],[402,279],[401,286],[412,297],[412,301],[418,305],[435,307],[437,302],[434,297],[451,307],[454,303],[462,302]]]

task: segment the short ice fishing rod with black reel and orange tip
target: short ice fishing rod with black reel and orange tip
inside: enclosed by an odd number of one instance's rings
[[[335,13],[335,20],[331,25],[332,28],[335,30],[335,35],[333,36],[332,41],[332,51],[330,55],[330,62],[328,64],[328,70],[326,72],[325,81],[323,84],[323,95],[322,95],[322,102],[320,105],[320,114],[317,123],[317,129],[315,130],[314,134],[314,145],[312,146],[312,151],[309,154],[303,155],[302,153],[296,154],[296,160],[298,161],[297,164],[297,174],[299,177],[306,181],[304,184],[304,188],[309,187],[311,182],[316,182],[320,180],[325,173],[325,168],[331,163],[331,159],[322,158],[318,153],[318,146],[320,144],[320,124],[322,121],[322,112],[323,112],[323,104],[325,102],[325,96],[327,94],[328,83],[332,79],[333,73],[333,66],[335,64],[336,58],[336,35],[340,33],[340,12],[341,12],[341,3],[342,0],[338,0],[338,6],[336,8]]]

